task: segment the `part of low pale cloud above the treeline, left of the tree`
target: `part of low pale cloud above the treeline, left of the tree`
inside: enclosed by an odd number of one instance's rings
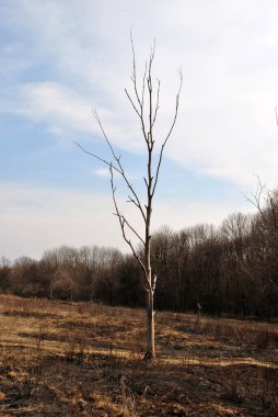
[[[0,253],[39,258],[61,245],[118,246],[112,200],[85,192],[0,184]],[[123,246],[123,245],[121,245]]]

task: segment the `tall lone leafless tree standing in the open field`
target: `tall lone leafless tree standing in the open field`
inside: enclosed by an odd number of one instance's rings
[[[118,218],[119,226],[121,229],[123,238],[131,249],[131,252],[136,260],[139,262],[142,275],[143,275],[143,285],[147,292],[147,351],[144,354],[144,359],[151,360],[155,357],[155,346],[154,346],[154,306],[153,306],[153,296],[157,284],[157,275],[152,272],[151,268],[151,224],[152,224],[152,211],[153,211],[153,198],[158,185],[161,162],[163,158],[163,153],[167,140],[173,132],[177,112],[179,104],[179,93],[182,89],[183,76],[182,71],[179,71],[179,87],[177,90],[177,94],[175,98],[175,111],[173,120],[170,124],[170,128],[165,134],[164,138],[161,140],[160,147],[155,148],[154,140],[154,125],[157,123],[158,112],[160,108],[160,90],[161,84],[159,80],[155,80],[153,83],[153,75],[152,67],[154,60],[154,52],[155,45],[151,48],[150,56],[148,61],[146,63],[144,74],[142,76],[141,86],[139,87],[138,75],[137,75],[137,65],[136,65],[136,54],[134,48],[132,37],[131,40],[131,49],[132,49],[132,92],[125,90],[126,95],[139,119],[143,142],[147,148],[147,173],[143,177],[144,185],[146,185],[146,201],[142,202],[139,198],[138,191],[131,184],[130,179],[127,176],[127,172],[121,165],[120,156],[118,156],[114,147],[107,137],[101,119],[96,110],[93,110],[93,115],[99,123],[103,137],[111,150],[112,160],[106,160],[99,155],[92,154],[88,151],[82,146],[77,144],[83,151],[93,156],[94,158],[101,160],[104,165],[109,167],[111,173],[111,188],[112,188],[112,196],[115,206],[115,215]],[[154,161],[154,155],[157,156],[157,161]],[[140,217],[143,222],[144,235],[141,235],[139,230],[130,223],[128,217],[123,214],[118,201],[116,198],[116,185],[115,185],[115,173],[121,177],[127,189],[128,189],[128,202],[134,204],[134,206],[139,212]],[[140,247],[132,243],[129,238],[134,235],[137,240],[140,243],[143,250],[140,250]]]

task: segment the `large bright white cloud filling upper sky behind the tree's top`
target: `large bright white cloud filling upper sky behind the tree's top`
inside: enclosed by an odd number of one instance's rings
[[[157,143],[171,124],[176,68],[183,67],[179,117],[166,156],[239,187],[250,188],[253,173],[270,187],[277,182],[276,2],[28,0],[16,5],[5,8],[5,18],[22,35],[26,68],[46,69],[39,80],[33,72],[28,82],[19,77],[12,111],[68,137],[72,129],[100,134],[91,116],[96,106],[116,146],[141,153],[140,125],[124,93],[130,87],[132,26],[138,74],[157,38],[154,69],[162,81]]]

